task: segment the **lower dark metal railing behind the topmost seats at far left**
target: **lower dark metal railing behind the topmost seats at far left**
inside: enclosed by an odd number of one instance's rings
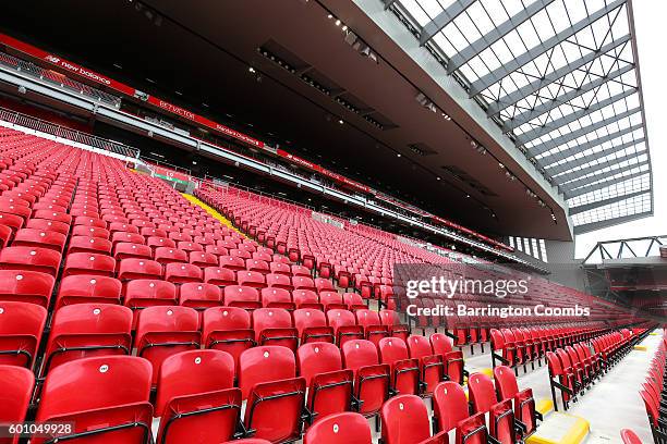
[[[7,108],[0,107],[0,121],[4,121],[14,125],[23,126],[29,130],[35,130],[41,133],[50,134],[56,137],[76,141],[83,145],[87,145],[93,148],[101,149],[105,151],[113,152],[138,159],[141,151],[137,148],[133,148],[118,141],[112,141],[101,137],[94,136],[92,134],[83,133],[77,130],[68,128],[65,126],[57,125],[47,121],[43,121],[38,118],[23,114],[17,111],[13,111]]]

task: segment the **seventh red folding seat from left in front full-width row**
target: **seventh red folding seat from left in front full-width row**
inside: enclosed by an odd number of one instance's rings
[[[408,346],[400,337],[385,337],[378,343],[380,361],[391,369],[393,393],[417,395],[420,393],[420,362],[410,359]]]

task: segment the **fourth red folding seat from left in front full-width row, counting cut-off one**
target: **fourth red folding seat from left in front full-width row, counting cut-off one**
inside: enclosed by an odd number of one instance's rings
[[[247,398],[245,429],[271,442],[300,437],[306,385],[294,378],[294,354],[287,347],[257,346],[243,351],[239,365],[239,387]]]

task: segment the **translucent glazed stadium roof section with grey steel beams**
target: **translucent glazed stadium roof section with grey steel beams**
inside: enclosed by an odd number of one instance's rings
[[[653,213],[630,0],[378,0],[570,207],[574,233]]]

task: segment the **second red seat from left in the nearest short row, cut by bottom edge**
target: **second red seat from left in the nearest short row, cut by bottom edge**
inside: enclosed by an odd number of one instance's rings
[[[419,396],[392,397],[383,406],[380,419],[383,443],[416,444],[430,437],[428,410]]]

